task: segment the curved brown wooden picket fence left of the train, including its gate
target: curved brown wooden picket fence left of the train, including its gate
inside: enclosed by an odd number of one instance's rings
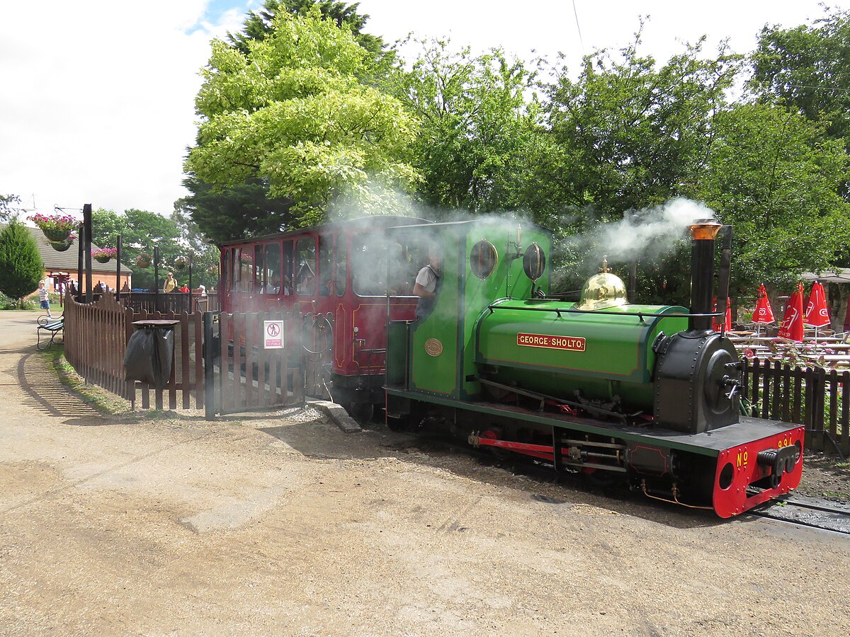
[[[220,316],[218,335],[213,339],[208,330],[205,338],[204,313],[134,312],[111,295],[89,304],[66,296],[65,358],[86,382],[125,398],[133,409],[137,403],[142,409],[167,405],[167,409],[203,409],[211,416],[303,403],[303,355],[295,330],[300,315],[280,309],[216,316]],[[212,314],[207,317],[212,324]],[[124,377],[124,352],[135,330],[133,323],[155,319],[178,321],[171,375],[161,388]],[[265,320],[284,322],[285,349],[263,347]],[[211,347],[206,365],[205,341]]]

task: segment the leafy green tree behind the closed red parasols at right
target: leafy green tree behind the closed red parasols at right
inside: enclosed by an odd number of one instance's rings
[[[850,160],[827,126],[771,104],[717,115],[700,195],[734,226],[742,288],[822,271],[850,241],[850,206],[838,192]]]

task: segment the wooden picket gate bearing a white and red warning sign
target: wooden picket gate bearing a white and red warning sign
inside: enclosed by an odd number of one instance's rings
[[[299,321],[286,309],[204,313],[207,418],[304,403]]]

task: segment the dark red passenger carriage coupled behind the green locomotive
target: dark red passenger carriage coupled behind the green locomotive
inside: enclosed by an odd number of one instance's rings
[[[366,217],[219,245],[222,310],[286,307],[303,314],[291,335],[320,356],[335,400],[369,409],[383,402],[388,320],[414,318],[416,273],[428,262],[417,242],[389,242],[386,228],[427,223]]]

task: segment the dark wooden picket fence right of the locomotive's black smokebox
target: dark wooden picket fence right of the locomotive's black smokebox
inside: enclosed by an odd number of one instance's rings
[[[744,378],[754,416],[805,425],[809,448],[850,454],[850,371],[745,358]]]

